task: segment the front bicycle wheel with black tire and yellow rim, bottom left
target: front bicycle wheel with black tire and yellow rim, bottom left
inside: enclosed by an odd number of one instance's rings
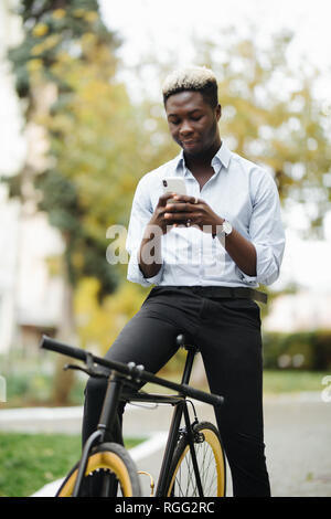
[[[100,472],[103,470],[103,472]],[[61,485],[55,497],[71,497],[74,490],[78,472],[78,463],[72,468],[65,480]],[[104,443],[95,447],[88,457],[85,476],[83,478],[83,496],[98,497],[90,491],[90,479],[93,477],[113,478],[118,487],[118,497],[140,497],[140,483],[135,462],[122,445],[117,443]],[[113,487],[114,488],[114,487]],[[114,490],[113,490],[114,491]],[[109,490],[104,497],[116,497]]]

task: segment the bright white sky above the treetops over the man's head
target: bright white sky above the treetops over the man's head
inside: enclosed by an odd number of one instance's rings
[[[330,0],[99,0],[99,6],[108,28],[124,38],[119,54],[128,67],[149,52],[160,61],[171,56],[179,65],[192,63],[192,36],[217,41],[224,29],[234,27],[252,38],[252,23],[261,46],[279,31],[293,31],[288,55],[292,66],[299,56],[309,57],[323,72],[331,66]],[[321,83],[325,100],[329,85]]]

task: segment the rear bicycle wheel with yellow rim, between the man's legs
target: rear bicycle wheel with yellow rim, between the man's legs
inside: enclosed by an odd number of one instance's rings
[[[196,460],[204,497],[225,497],[226,465],[217,428],[210,422],[200,422],[193,427],[202,442],[194,442]],[[186,436],[175,447],[169,472],[168,497],[199,497],[194,469]]]

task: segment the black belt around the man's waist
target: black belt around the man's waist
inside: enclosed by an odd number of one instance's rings
[[[254,299],[264,304],[268,301],[267,294],[255,290],[254,288],[249,287],[246,288],[231,286],[178,286],[177,288],[188,289],[193,294],[205,297],[218,297],[226,299]]]

